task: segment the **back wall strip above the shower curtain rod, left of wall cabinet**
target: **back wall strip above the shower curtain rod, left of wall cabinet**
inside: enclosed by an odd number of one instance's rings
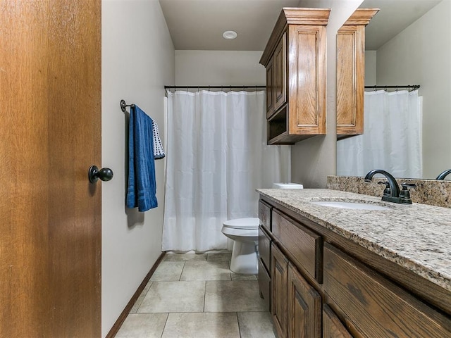
[[[221,86],[266,84],[262,51],[175,51],[175,84]]]

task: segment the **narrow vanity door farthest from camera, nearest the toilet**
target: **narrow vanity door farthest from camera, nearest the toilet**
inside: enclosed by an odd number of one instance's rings
[[[271,246],[271,282],[272,301],[271,313],[276,325],[278,338],[287,337],[287,282],[288,282],[288,260],[274,244]]]

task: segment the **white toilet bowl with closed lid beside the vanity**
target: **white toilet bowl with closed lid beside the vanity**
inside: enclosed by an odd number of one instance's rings
[[[223,223],[221,232],[233,239],[230,270],[234,273],[257,275],[259,272],[259,224],[259,218],[237,218]]]

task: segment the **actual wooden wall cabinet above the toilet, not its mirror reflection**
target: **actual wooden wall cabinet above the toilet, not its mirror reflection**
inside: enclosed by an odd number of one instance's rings
[[[260,63],[266,67],[268,144],[326,134],[326,25],[330,9],[283,8]]]

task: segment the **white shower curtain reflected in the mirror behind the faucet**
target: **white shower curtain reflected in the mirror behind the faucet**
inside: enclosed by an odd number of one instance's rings
[[[418,91],[365,92],[364,134],[337,142],[337,175],[383,169],[422,177],[422,101]]]

